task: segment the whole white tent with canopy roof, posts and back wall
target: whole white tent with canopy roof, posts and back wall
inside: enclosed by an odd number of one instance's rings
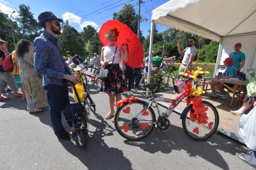
[[[153,25],[169,26],[220,43],[217,65],[242,43],[246,68],[256,68],[256,0],[171,0],[155,8],[151,18],[152,50]]]

